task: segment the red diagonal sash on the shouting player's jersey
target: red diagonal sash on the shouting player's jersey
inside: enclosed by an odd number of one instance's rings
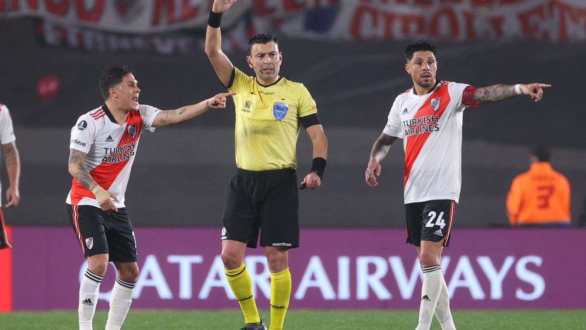
[[[140,136],[142,130],[142,117],[140,111],[136,110],[128,113],[126,123],[127,124],[124,129],[124,133],[122,133],[120,142],[118,142],[118,147],[130,142],[138,141],[138,137]],[[132,126],[132,124],[136,124],[136,132],[134,134],[134,137],[132,137],[128,132],[128,127]],[[134,151],[136,152],[136,149]],[[118,163],[101,163],[100,165],[96,166],[96,168],[90,171],[90,175],[92,179],[94,179],[94,181],[96,181],[96,183],[100,185],[100,187],[104,188],[105,190],[108,190],[114,182],[114,180],[116,180],[118,174],[120,174],[122,169],[124,169],[129,160],[130,157],[129,159],[120,161]],[[82,186],[81,183],[79,183],[79,181],[73,179],[73,182],[71,183],[71,204],[77,205],[77,203],[79,203],[79,201],[83,197],[96,198],[96,196],[94,196],[94,194],[92,194],[91,191],[87,190],[86,187]]]

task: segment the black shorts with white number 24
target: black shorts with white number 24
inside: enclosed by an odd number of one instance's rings
[[[407,243],[421,246],[421,241],[443,241],[449,245],[456,214],[453,200],[430,200],[405,204]]]

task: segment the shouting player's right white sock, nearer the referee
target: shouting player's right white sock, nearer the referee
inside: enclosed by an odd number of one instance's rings
[[[110,311],[105,330],[119,330],[132,304],[132,292],[137,282],[127,282],[116,277],[110,297]]]

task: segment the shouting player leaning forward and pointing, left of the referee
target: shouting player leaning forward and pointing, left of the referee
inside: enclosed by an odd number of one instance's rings
[[[104,105],[81,115],[71,128],[67,211],[87,270],[78,300],[80,329],[92,329],[101,281],[114,262],[117,276],[110,298],[106,329],[120,329],[132,302],[138,277],[137,244],[125,208],[126,187],[145,130],[185,122],[210,108],[226,107],[220,93],[195,105],[173,110],[140,105],[138,81],[127,67],[100,76]]]

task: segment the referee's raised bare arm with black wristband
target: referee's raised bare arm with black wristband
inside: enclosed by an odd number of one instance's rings
[[[207,20],[206,30],[206,55],[212,62],[216,75],[225,87],[229,87],[230,78],[234,66],[228,56],[222,52],[222,32],[220,23],[222,14],[227,11],[237,0],[214,0],[210,18]]]

